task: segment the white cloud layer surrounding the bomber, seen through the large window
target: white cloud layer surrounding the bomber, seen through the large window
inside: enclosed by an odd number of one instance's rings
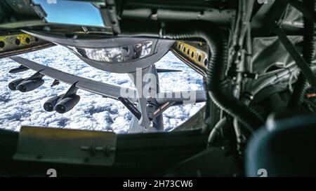
[[[150,46],[150,43],[142,45]],[[146,52],[140,52],[140,55]],[[36,52],[28,52],[20,55],[39,64],[51,66],[60,71],[72,73],[76,76],[90,78],[91,80],[133,87],[129,75],[126,73],[110,73],[95,69],[81,61],[67,48],[57,45]],[[0,59],[0,128],[19,131],[22,125],[40,127],[59,127],[70,129],[88,129],[96,131],[114,131],[117,134],[125,134],[129,131],[129,125],[133,114],[121,104],[110,98],[104,98],[98,94],[78,90],[80,101],[67,113],[47,112],[44,103],[56,95],[65,94],[70,85],[60,82],[51,87],[53,79],[44,76],[45,83],[41,87],[22,93],[11,91],[8,83],[18,78],[27,78],[34,74],[28,70],[21,73],[8,73],[10,69],[19,66],[11,59]],[[186,90],[203,90],[203,80],[199,73],[180,61],[173,53],[168,52],[155,64],[157,69],[174,69],[180,72],[159,73],[159,85],[161,92],[178,92]],[[171,106],[163,113],[164,130],[169,132],[185,122],[204,106],[200,104],[187,104],[184,106]]]

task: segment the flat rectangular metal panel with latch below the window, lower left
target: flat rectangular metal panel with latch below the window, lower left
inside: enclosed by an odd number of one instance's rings
[[[113,132],[21,127],[13,159],[111,166],[116,144]]]

